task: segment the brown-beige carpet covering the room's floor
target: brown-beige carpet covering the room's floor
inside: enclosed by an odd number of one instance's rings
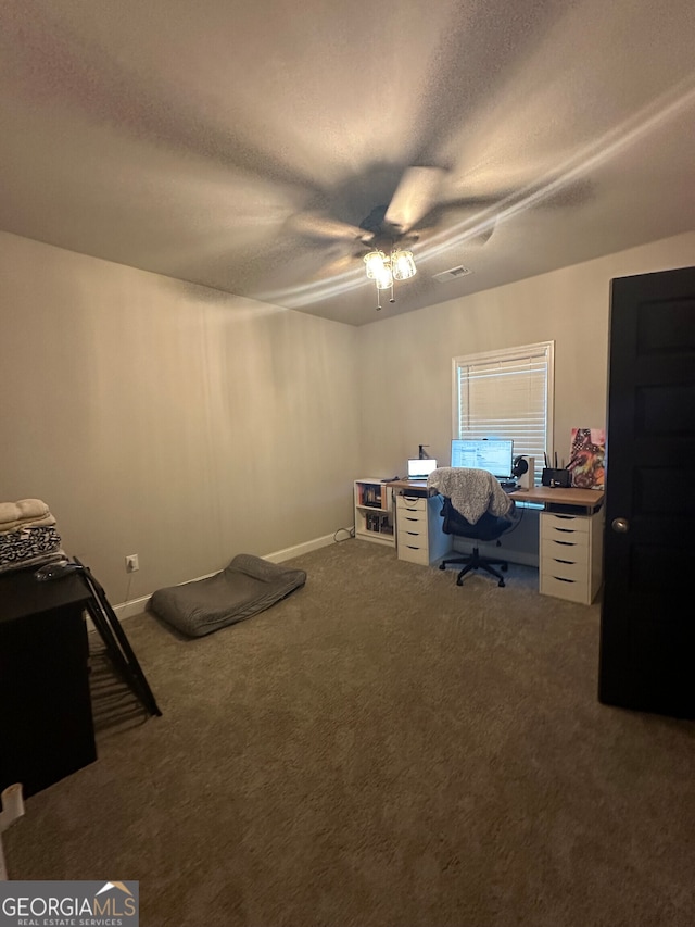
[[[598,703],[598,604],[292,563],[210,637],[124,623],[163,716],[94,656],[99,759],[27,800],[12,878],[138,879],[143,927],[693,927],[695,724]]]

